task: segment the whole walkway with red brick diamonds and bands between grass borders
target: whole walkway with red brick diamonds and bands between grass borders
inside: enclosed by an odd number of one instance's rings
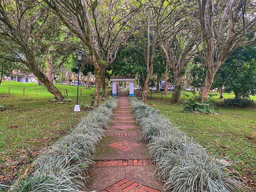
[[[95,166],[89,170],[88,191],[164,191],[163,183],[153,174],[155,165],[148,159],[147,143],[140,138],[124,90],[119,93],[118,107],[113,111],[111,126],[105,135],[94,156]]]

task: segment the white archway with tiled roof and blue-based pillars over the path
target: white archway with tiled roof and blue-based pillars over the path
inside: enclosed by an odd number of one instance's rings
[[[134,76],[111,76],[110,81],[112,81],[112,95],[117,95],[118,81],[129,81],[129,96],[134,96]]]

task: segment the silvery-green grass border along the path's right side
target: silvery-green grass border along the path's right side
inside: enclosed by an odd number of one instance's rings
[[[241,178],[230,163],[208,155],[207,150],[186,136],[152,107],[130,98],[134,118],[148,142],[149,157],[156,163],[159,179],[173,192],[243,191]]]

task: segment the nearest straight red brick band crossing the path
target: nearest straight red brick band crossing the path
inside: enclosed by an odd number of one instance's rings
[[[128,160],[99,160],[94,161],[94,167],[116,167],[116,166],[145,166],[153,165],[149,159],[128,159]]]

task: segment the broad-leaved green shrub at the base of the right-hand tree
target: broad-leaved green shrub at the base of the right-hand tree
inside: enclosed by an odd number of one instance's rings
[[[201,112],[201,113],[217,113],[216,106],[212,103],[213,99],[212,97],[216,94],[211,94],[209,97],[203,101],[199,100],[199,97],[196,96],[195,91],[191,91],[193,96],[189,96],[185,94],[185,96],[188,98],[186,101],[183,102],[183,105],[181,108],[183,109],[183,112],[185,113],[193,113],[195,111]]]

